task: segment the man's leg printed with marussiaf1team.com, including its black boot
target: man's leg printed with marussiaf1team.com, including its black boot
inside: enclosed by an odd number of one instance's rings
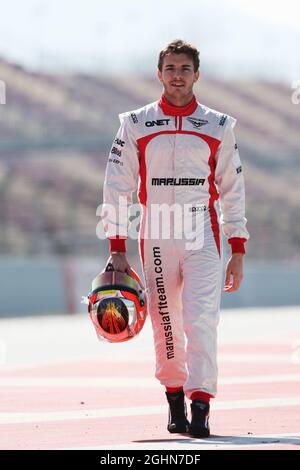
[[[143,254],[156,353],[155,376],[166,387],[169,403],[167,429],[170,433],[185,433],[189,422],[183,392],[187,371],[179,255],[172,240],[145,241]]]

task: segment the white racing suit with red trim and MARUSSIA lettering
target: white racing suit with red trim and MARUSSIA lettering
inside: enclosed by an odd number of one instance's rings
[[[119,217],[119,196],[132,203],[138,185],[143,205],[140,255],[148,293],[156,377],[166,387],[215,396],[217,325],[222,283],[220,223],[233,252],[244,252],[246,230],[244,180],[233,127],[235,119],[209,109],[195,98],[183,108],[160,101],[120,115],[104,183],[103,219],[111,251],[125,251],[127,220]],[[125,198],[125,199],[124,199]],[[189,248],[189,235],[175,226],[170,237],[147,235],[158,218],[153,204],[187,205],[192,220],[203,222],[200,247]],[[116,215],[107,215],[107,207]],[[193,219],[194,218],[194,219]],[[122,220],[121,220],[122,219]],[[189,232],[188,232],[189,233]],[[200,237],[201,238],[201,237]]]

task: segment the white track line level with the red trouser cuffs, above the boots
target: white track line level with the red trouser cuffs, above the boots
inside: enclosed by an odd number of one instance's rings
[[[220,377],[221,385],[268,384],[300,382],[300,374],[254,375],[245,377]],[[122,387],[161,388],[149,377],[2,377],[0,387]]]

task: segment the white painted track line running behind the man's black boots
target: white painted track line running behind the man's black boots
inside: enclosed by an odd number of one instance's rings
[[[220,401],[212,405],[214,410],[234,410],[251,408],[272,408],[298,406],[300,397],[267,398],[258,400]],[[139,406],[130,408],[103,408],[73,411],[0,413],[0,424],[37,423],[124,416],[147,416],[165,414],[166,406]]]

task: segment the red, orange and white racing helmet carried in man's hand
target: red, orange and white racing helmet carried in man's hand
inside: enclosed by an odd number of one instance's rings
[[[100,340],[120,343],[134,338],[143,328],[147,316],[144,287],[131,268],[131,275],[106,270],[92,282],[88,295],[88,312]]]

